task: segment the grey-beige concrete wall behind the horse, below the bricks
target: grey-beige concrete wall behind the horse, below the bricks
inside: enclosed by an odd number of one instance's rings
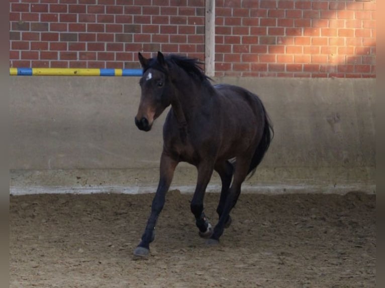
[[[11,193],[153,192],[166,113],[150,132],[136,128],[138,80],[11,77]],[[215,80],[257,93],[274,124],[245,191],[375,190],[375,79]],[[178,166],[172,188],[195,183],[195,168]]]

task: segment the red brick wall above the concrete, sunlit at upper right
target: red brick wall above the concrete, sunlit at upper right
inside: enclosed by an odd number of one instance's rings
[[[376,1],[216,0],[217,76],[375,77]],[[11,67],[204,59],[204,0],[10,0]]]

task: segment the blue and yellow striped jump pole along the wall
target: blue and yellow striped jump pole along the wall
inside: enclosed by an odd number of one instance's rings
[[[11,76],[142,76],[142,69],[10,68]]]

